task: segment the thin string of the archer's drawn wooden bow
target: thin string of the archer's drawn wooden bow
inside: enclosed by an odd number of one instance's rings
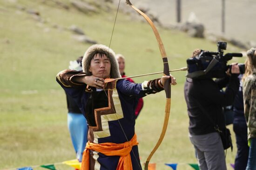
[[[118,14],[119,7],[120,7],[120,2],[121,2],[121,0],[119,0],[119,2],[118,2],[117,11],[116,11],[116,14],[115,14],[114,26],[113,26],[113,29],[112,29],[112,33],[111,33],[111,37],[110,37],[110,41],[109,41],[109,45],[108,45],[108,54],[109,54],[109,49],[110,49],[110,45],[111,45],[111,42],[112,42],[114,30],[115,30],[115,23],[116,23],[117,14]],[[106,67],[106,63],[104,64],[104,67]],[[104,74],[104,72],[102,73],[102,78],[103,78],[103,74]],[[107,92],[106,92],[106,90],[105,90],[104,87],[103,87],[103,91],[105,92],[106,96],[108,97],[108,94],[107,94]],[[111,102],[110,102],[110,105],[111,105],[111,108],[114,108],[114,106],[112,105]],[[122,127],[122,125],[121,125],[121,123],[120,123],[120,121],[119,121],[119,118],[117,117],[116,114],[115,114],[115,116],[116,116],[116,119],[117,119],[117,121],[118,121],[118,123],[119,123],[119,125],[120,125],[120,127],[121,127],[121,130],[122,130],[122,132],[123,132],[123,134],[124,134],[124,136],[125,136],[127,142],[129,142],[128,137],[127,137],[125,131],[123,130],[123,127]],[[134,157],[135,157],[135,160],[136,160],[137,164],[139,165],[140,169],[142,170],[141,164],[138,162],[138,158],[136,157],[136,155],[135,155],[133,149],[132,149],[132,153],[133,153],[133,155],[134,155]]]

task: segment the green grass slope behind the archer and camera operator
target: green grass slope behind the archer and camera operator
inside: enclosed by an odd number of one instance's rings
[[[0,169],[57,163],[75,158],[67,130],[65,94],[55,75],[68,67],[70,60],[83,55],[89,44],[76,42],[72,33],[53,28],[72,24],[108,46],[115,11],[85,15],[52,3],[36,0],[0,1]],[[68,2],[65,0],[64,2]],[[46,20],[40,23],[17,5],[34,9]],[[113,7],[114,9],[116,7]],[[190,38],[176,30],[159,28],[168,54],[170,69],[186,66],[195,48],[216,51],[216,44]],[[119,13],[111,48],[126,57],[127,75],[162,71],[162,59],[147,23],[130,20]],[[228,52],[240,49],[229,46]],[[237,59],[235,59],[237,60]],[[238,59],[243,62],[243,59]],[[157,170],[168,170],[164,163],[196,163],[188,137],[189,119],[183,98],[185,72],[174,72],[178,85],[172,86],[169,126],[162,145],[152,157]],[[160,75],[135,78],[136,82]],[[145,162],[162,129],[165,94],[144,98],[144,107],[136,121],[141,163]],[[232,129],[232,126],[229,127]],[[234,133],[233,143],[235,145]],[[233,163],[235,150],[228,151],[227,163]],[[60,166],[60,169],[68,169]],[[190,170],[181,164],[179,169]],[[231,170],[228,166],[228,169]]]

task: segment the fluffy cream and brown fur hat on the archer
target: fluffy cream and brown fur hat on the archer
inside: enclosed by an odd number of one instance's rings
[[[92,75],[92,73],[89,71],[90,62],[93,59],[94,55],[97,53],[105,54],[110,60],[110,78],[121,78],[118,62],[117,59],[115,59],[115,52],[108,46],[102,44],[94,44],[87,49],[82,59],[83,72],[85,72],[87,75]]]

